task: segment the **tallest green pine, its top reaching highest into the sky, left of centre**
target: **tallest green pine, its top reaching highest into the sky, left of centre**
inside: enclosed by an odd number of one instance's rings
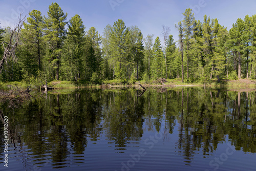
[[[45,20],[45,38],[48,42],[48,57],[49,60],[53,62],[56,69],[56,79],[59,80],[59,66],[60,66],[60,56],[61,47],[63,39],[65,38],[66,30],[65,22],[67,18],[67,13],[65,14],[57,3],[52,3],[49,6],[49,11],[47,12],[48,17],[44,16]]]

